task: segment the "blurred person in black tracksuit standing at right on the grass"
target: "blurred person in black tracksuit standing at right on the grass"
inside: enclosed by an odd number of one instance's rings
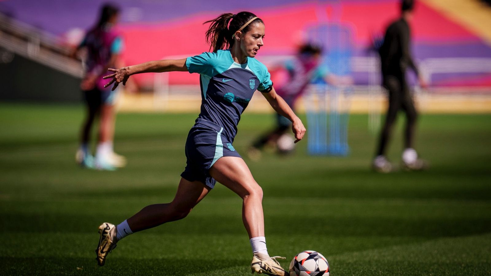
[[[380,134],[376,157],[373,168],[379,172],[389,172],[392,164],[385,156],[387,143],[390,138],[392,126],[399,110],[406,113],[406,129],[404,133],[404,147],[402,163],[406,169],[421,170],[426,167],[426,162],[418,158],[413,148],[414,127],[417,119],[417,111],[409,91],[406,80],[406,69],[410,67],[416,75],[420,85],[425,87],[426,83],[420,78],[418,69],[410,55],[410,29],[408,22],[412,16],[414,6],[413,0],[401,2],[402,16],[387,28],[383,44],[379,49],[382,66],[383,86],[388,90],[389,105],[385,123]]]

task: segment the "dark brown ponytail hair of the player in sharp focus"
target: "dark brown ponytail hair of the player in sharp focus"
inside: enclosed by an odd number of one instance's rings
[[[251,12],[241,11],[238,14],[224,13],[215,19],[203,23],[211,23],[210,28],[206,31],[206,42],[210,44],[210,50],[213,49],[213,52],[217,52],[221,49],[232,48],[234,45],[234,39],[232,38],[234,33],[254,17],[256,15]],[[228,26],[229,23],[230,26]],[[246,33],[249,31],[250,26],[256,23],[264,24],[260,18],[256,18],[243,28],[242,32]]]

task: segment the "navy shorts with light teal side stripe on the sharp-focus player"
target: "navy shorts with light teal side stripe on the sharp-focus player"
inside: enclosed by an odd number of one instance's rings
[[[196,119],[186,140],[187,161],[182,178],[202,182],[212,189],[215,187],[217,181],[208,173],[213,164],[222,156],[241,157],[232,146],[232,141],[222,132],[221,126],[205,119]]]

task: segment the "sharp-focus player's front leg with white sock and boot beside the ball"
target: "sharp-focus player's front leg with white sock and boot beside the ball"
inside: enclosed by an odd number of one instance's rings
[[[237,193],[243,199],[242,220],[253,246],[252,273],[267,275],[289,275],[275,258],[270,257],[264,239],[263,190],[252,177],[249,168],[240,157],[225,156],[210,168],[210,175],[219,183]],[[263,250],[255,250],[257,248]],[[264,243],[264,245],[262,245]],[[254,252],[257,251],[257,252]]]

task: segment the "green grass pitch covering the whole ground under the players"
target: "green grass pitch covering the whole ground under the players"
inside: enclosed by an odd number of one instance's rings
[[[1,104],[0,274],[249,275],[241,199],[219,184],[186,219],[136,233],[96,264],[101,222],[172,199],[195,117],[119,114],[115,149],[129,163],[108,172],[75,164],[81,106]],[[272,125],[271,115],[246,112],[235,148],[245,155]],[[288,267],[317,250],[334,276],[491,275],[491,115],[422,115],[425,172],[370,171],[367,116],[352,115],[349,132],[349,157],[308,156],[302,141],[289,158],[246,159],[265,194],[269,252]]]

